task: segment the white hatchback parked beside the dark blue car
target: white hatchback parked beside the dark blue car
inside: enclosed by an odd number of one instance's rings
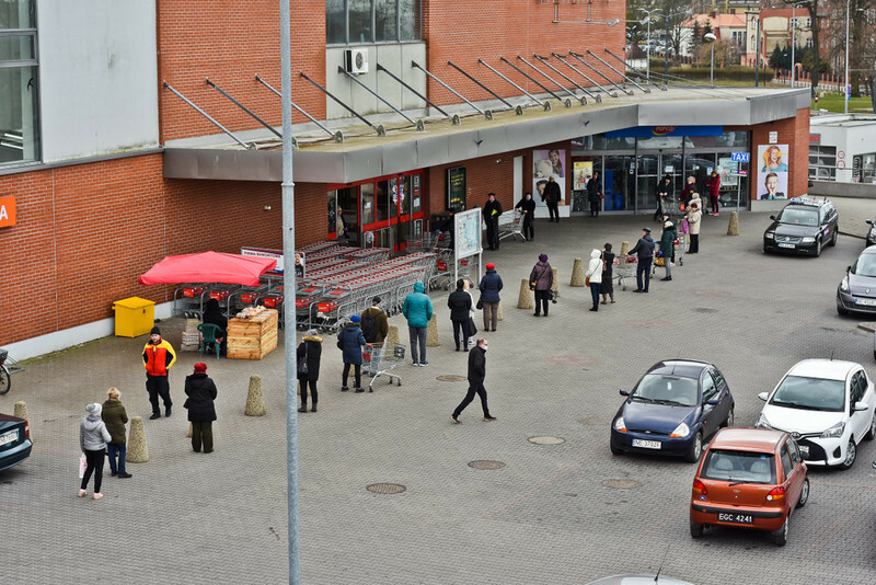
[[[757,426],[788,433],[809,466],[849,469],[861,439],[876,437],[876,392],[861,364],[804,359],[758,398],[766,405]]]

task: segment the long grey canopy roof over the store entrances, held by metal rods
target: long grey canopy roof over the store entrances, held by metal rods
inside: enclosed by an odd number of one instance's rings
[[[509,101],[531,103],[526,96]],[[494,107],[499,103],[482,104]],[[343,130],[343,144],[316,140],[316,134],[313,141],[298,135],[295,179],[307,183],[353,183],[632,126],[749,126],[795,117],[798,110],[808,107],[808,89],[673,85],[649,94],[621,94],[602,103],[551,111],[529,108],[522,116],[509,110],[494,111],[493,119],[470,116],[461,125],[440,116],[425,131],[387,115],[384,125],[393,131],[385,136],[374,136],[366,125],[354,125],[353,119],[345,118],[330,124],[333,129]],[[471,112],[464,104],[443,108],[460,116]],[[224,135],[169,141],[164,176],[281,182],[281,142],[276,136],[266,128],[238,136],[255,142],[257,149],[245,149]]]

